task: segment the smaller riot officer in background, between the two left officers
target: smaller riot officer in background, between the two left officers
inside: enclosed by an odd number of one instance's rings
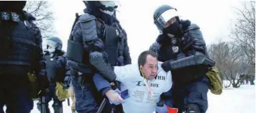
[[[65,52],[62,51],[62,41],[59,37],[46,39],[47,50],[44,55],[46,60],[46,72],[49,80],[46,95],[46,112],[50,112],[48,102],[53,99],[52,108],[55,113],[62,113],[62,101],[56,95],[57,82],[64,83],[65,73],[68,70]],[[37,103],[37,109],[41,111],[42,102]]]

